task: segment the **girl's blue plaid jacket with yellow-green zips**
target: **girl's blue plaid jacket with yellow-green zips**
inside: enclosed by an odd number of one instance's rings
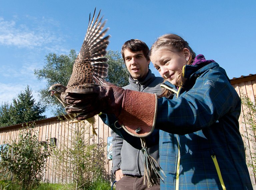
[[[253,189],[239,132],[241,100],[217,63],[186,65],[184,88],[158,99],[161,189]]]

